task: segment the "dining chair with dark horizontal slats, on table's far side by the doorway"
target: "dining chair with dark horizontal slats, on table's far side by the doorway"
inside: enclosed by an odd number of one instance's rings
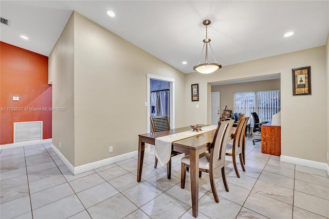
[[[153,132],[170,130],[170,122],[169,122],[168,115],[166,115],[166,116],[151,116],[150,118],[151,118],[151,124],[152,124]],[[172,150],[170,157],[176,156],[178,154],[181,154],[181,153]],[[155,157],[154,168],[156,168],[157,165],[158,165],[158,159]],[[168,179],[171,178],[171,159],[167,163],[167,178]]]

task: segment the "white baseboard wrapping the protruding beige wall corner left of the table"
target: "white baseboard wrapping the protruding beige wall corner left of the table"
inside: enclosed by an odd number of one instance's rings
[[[112,163],[125,160],[127,158],[137,157],[137,154],[138,154],[138,151],[133,151],[130,153],[118,155],[116,157],[110,157],[110,158],[106,158],[104,160],[87,163],[86,165],[81,165],[79,167],[74,167],[53,144],[51,145],[51,148],[59,156],[59,158],[63,161],[64,165],[69,169],[69,171],[73,175],[77,175],[79,173],[83,173],[83,172],[86,172],[89,170],[94,170],[94,169],[97,169],[100,167],[104,167],[106,165],[110,165]]]

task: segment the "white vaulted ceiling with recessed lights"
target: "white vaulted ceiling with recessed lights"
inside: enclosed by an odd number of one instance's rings
[[[208,37],[223,66],[325,45],[328,1],[0,1],[0,40],[49,56],[72,10],[178,70],[193,72]],[[111,9],[115,17],[105,11]],[[294,30],[296,34],[284,38]],[[24,40],[20,35],[26,35]],[[129,51],[127,51],[129,52]],[[204,57],[203,57],[204,58]],[[186,61],[188,64],[181,64]],[[209,61],[212,62],[210,59]]]

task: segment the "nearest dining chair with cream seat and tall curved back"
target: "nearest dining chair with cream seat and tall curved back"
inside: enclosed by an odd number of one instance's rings
[[[220,202],[215,187],[214,170],[216,168],[221,168],[225,190],[227,192],[229,191],[225,175],[225,147],[233,123],[234,120],[232,119],[219,122],[213,141],[210,144],[210,153],[204,152],[199,155],[199,171],[209,173],[211,190],[216,203]],[[185,188],[186,171],[188,167],[190,167],[190,155],[181,158],[180,188],[182,189]]]

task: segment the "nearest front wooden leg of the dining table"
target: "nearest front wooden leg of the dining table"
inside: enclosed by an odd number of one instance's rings
[[[190,174],[191,174],[191,195],[192,214],[197,217],[199,199],[199,155],[194,150],[190,150]]]

